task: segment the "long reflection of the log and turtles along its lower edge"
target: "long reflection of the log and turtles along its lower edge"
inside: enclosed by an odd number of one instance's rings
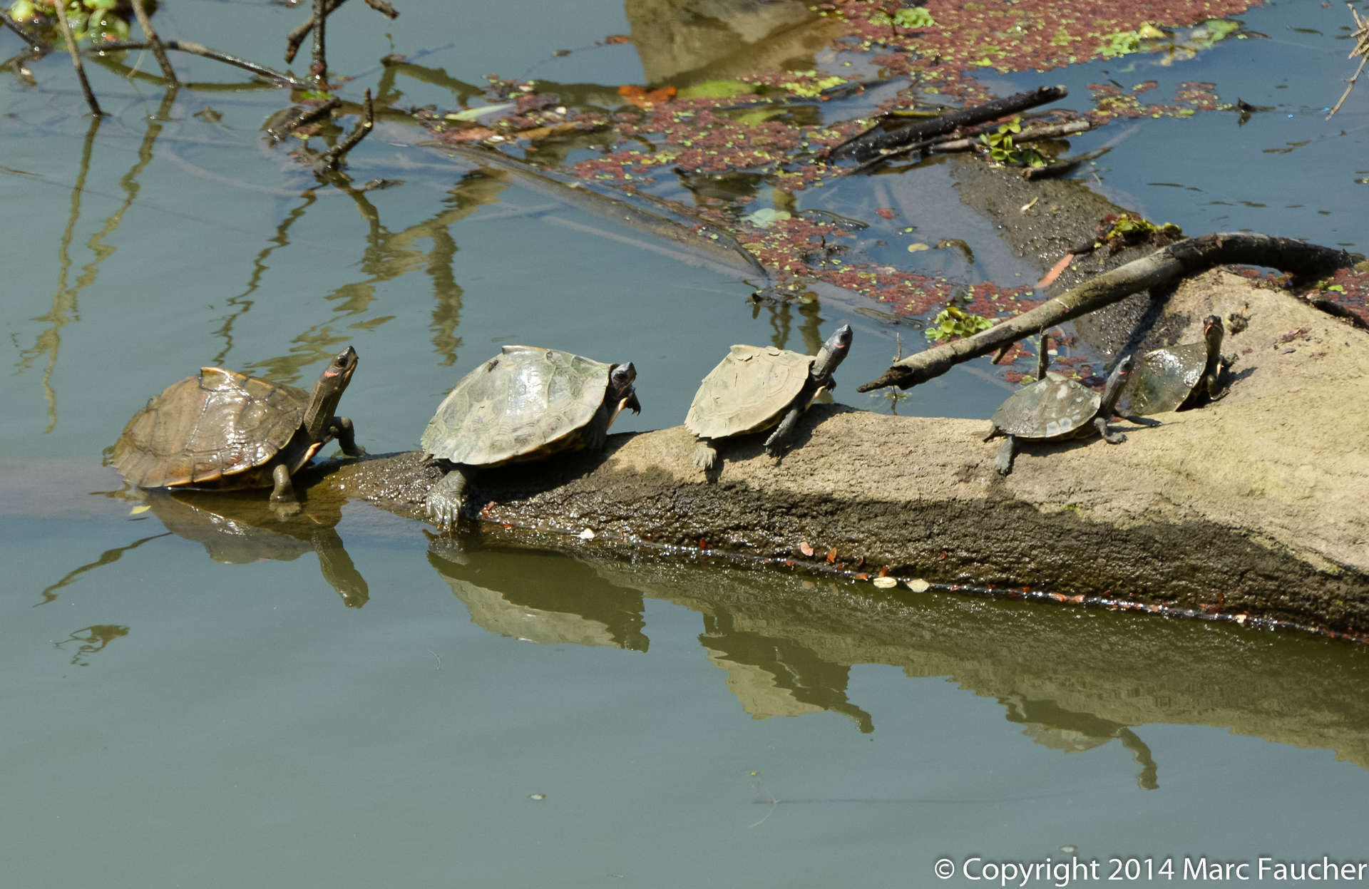
[[[1049,749],[1118,741],[1142,789],[1160,786],[1142,740],[1150,723],[1227,727],[1369,767],[1369,652],[1348,645],[769,571],[448,545],[434,540],[428,562],[476,623],[504,636],[645,649],[643,596],[698,611],[704,656],[757,719],[830,711],[873,731],[878,714],[849,700],[849,678],[887,664],[997,700]]]

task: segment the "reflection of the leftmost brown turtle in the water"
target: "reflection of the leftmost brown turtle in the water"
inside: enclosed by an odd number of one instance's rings
[[[360,608],[370,597],[366,579],[342,547],[335,526],[342,499],[309,500],[307,510],[289,518],[257,499],[241,493],[149,490],[146,504],[168,531],[201,544],[209,558],[225,564],[251,564],[263,559],[292,562],[307,552],[319,558],[319,570],[348,608]]]

